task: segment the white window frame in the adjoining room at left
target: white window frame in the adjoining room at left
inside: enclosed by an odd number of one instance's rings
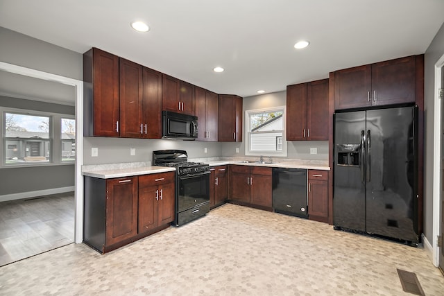
[[[6,138],[6,113],[12,114],[22,114],[22,115],[30,115],[30,116],[45,116],[49,117],[49,161],[48,162],[29,162],[29,163],[21,163],[21,164],[6,164],[6,141],[11,138]],[[55,112],[44,112],[38,110],[27,110],[27,109],[19,109],[12,107],[3,107],[0,106],[0,119],[1,125],[1,146],[0,146],[0,155],[1,162],[0,168],[24,168],[31,166],[58,166],[58,165],[73,165],[76,162],[76,157],[72,159],[72,161],[62,161],[62,133],[61,133],[61,121],[63,119],[74,119],[76,117],[74,114],[63,114],[63,113],[55,113]],[[77,135],[74,139],[76,141]],[[22,138],[20,138],[22,139]],[[46,140],[46,139],[45,139]],[[77,150],[77,143],[76,143]]]

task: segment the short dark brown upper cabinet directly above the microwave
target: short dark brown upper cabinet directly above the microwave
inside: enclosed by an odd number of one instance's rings
[[[162,110],[194,115],[194,85],[162,74]]]

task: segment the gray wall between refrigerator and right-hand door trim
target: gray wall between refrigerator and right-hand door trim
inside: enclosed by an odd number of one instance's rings
[[[435,64],[444,55],[444,24],[425,52],[425,162],[424,162],[424,235],[432,243],[433,231],[433,158]]]

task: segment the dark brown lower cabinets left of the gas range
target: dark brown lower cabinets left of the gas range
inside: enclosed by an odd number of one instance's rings
[[[174,172],[101,179],[85,176],[83,242],[105,253],[169,227]]]

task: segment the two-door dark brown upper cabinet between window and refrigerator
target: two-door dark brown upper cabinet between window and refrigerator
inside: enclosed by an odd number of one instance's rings
[[[287,141],[327,141],[328,79],[287,86]]]

